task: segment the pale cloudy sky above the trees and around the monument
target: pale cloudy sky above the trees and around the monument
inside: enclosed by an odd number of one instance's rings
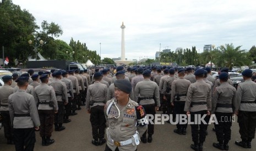
[[[13,0],[29,10],[37,25],[43,20],[60,25],[57,39],[86,43],[101,58],[121,56],[122,22],[128,60],[154,59],[156,51],[205,44],[233,43],[249,50],[255,45],[255,1],[230,0]],[[100,44],[101,43],[101,44]],[[161,47],[160,47],[161,44]]]

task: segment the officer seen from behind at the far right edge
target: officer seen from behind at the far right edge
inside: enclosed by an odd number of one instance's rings
[[[242,72],[244,82],[236,91],[236,115],[242,141],[235,143],[243,148],[251,148],[256,127],[256,83],[252,81],[252,70]]]

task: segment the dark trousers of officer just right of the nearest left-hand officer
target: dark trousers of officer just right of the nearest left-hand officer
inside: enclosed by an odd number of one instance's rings
[[[40,136],[52,136],[54,111],[39,109],[38,111],[40,119]]]

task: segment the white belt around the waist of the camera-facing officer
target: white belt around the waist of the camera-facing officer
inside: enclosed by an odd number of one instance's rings
[[[108,128],[107,128],[107,130],[106,130],[106,133],[107,133],[107,139],[108,139],[113,145],[115,145],[115,146],[117,146],[117,147],[126,146],[126,145],[128,145],[128,144],[133,144],[133,146],[139,144],[139,132],[138,132],[138,131],[136,131],[136,133],[135,133],[131,138],[129,138],[128,140],[126,140],[126,141],[121,141],[121,142],[112,140],[112,138],[110,137],[110,134],[109,134],[109,132],[108,132]]]

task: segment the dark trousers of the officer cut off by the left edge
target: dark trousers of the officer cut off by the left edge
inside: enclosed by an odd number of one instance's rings
[[[10,124],[9,111],[1,111],[1,116],[3,118],[4,137],[6,137],[8,140],[12,140],[13,126]]]

